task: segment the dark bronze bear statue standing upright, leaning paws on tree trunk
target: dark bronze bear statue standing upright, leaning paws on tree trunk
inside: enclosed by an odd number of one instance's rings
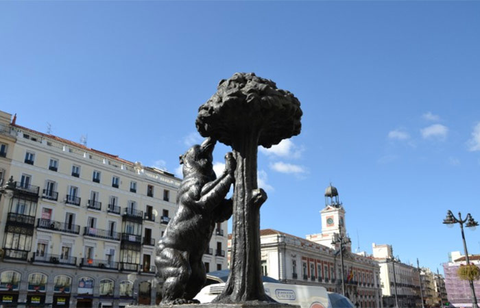
[[[164,280],[160,305],[198,303],[193,297],[206,281],[202,256],[215,224],[232,216],[232,200],[225,197],[235,181],[236,162],[227,153],[224,173],[217,179],[212,164],[215,143],[206,138],[180,155],[183,181],[178,210],[156,248],[157,277]]]

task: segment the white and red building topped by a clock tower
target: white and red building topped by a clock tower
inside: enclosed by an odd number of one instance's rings
[[[332,240],[340,233],[346,236],[345,210],[335,187],[329,186],[325,194],[322,233],[305,239],[274,229],[260,231],[263,275],[282,283],[321,286],[341,294],[340,246],[332,244]],[[352,253],[350,244],[344,246],[343,257],[346,296],[357,307],[383,307],[379,264]]]

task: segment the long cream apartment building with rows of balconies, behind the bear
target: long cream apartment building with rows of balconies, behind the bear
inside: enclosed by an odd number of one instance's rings
[[[0,305],[158,303],[155,246],[180,179],[0,112],[0,181]],[[207,270],[227,267],[226,230],[217,225]]]

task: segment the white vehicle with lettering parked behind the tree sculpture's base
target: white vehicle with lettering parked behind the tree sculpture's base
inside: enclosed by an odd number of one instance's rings
[[[265,293],[279,303],[299,305],[302,308],[355,308],[348,298],[341,294],[327,292],[324,287],[311,285],[288,285],[271,277],[262,277]],[[210,303],[223,290],[228,279],[228,270],[207,274],[206,286],[195,299]]]

